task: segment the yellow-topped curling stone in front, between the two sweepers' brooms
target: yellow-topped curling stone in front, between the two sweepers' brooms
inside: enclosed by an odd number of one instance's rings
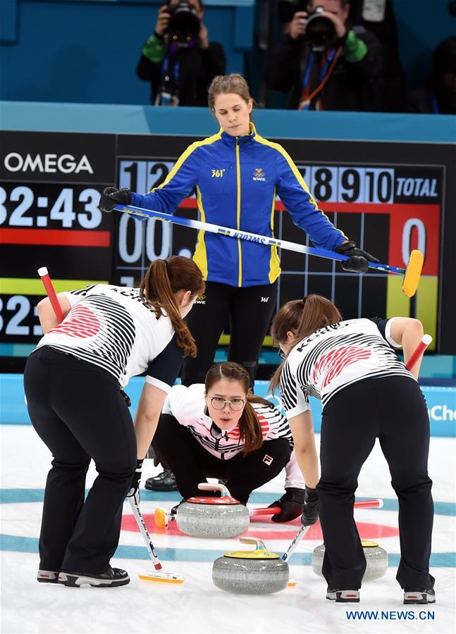
[[[226,552],[214,561],[214,585],[228,592],[247,595],[270,595],[288,585],[288,564],[275,552],[266,550],[256,537],[241,537],[242,544],[254,544],[255,550]]]

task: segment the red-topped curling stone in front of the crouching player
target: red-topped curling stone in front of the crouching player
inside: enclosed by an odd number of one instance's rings
[[[220,491],[221,497],[190,497],[181,502],[175,515],[179,530],[192,537],[237,537],[249,528],[247,506],[230,496],[225,485],[207,482],[202,491]]]

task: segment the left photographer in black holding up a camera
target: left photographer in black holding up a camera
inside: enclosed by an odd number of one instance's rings
[[[201,0],[168,0],[141,50],[136,73],[155,106],[205,106],[207,88],[226,72],[223,46],[209,42]]]

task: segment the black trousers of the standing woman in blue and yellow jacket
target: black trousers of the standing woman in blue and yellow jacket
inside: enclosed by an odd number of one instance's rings
[[[204,303],[197,303],[187,316],[187,324],[197,343],[197,356],[185,357],[183,385],[204,383],[214,363],[218,340],[230,318],[228,361],[237,361],[248,371],[253,385],[258,356],[276,307],[277,282],[261,286],[236,287],[206,282]]]

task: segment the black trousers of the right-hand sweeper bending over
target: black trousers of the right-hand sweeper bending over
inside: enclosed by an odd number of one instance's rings
[[[317,485],[328,588],[360,588],[366,559],[353,518],[357,478],[378,437],[399,500],[401,588],[433,588],[429,416],[418,383],[392,376],[343,388],[323,409]],[[372,495],[376,495],[373,491]]]

